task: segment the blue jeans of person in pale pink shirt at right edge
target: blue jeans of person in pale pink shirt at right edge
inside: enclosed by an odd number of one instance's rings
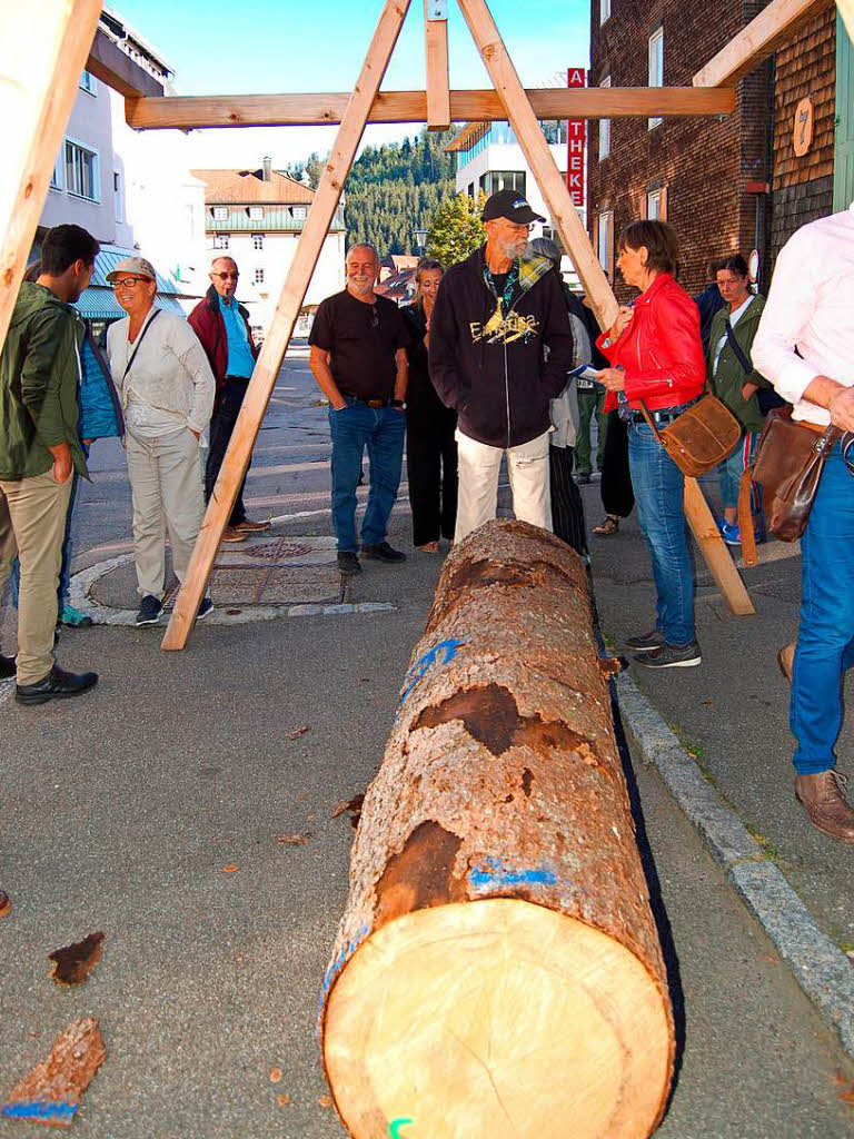
[[[836,765],[843,681],[854,664],[854,478],[839,444],[828,458],[800,540],[800,628],[789,727],[798,775]]]

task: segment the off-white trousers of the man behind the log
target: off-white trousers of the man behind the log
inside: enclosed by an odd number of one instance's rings
[[[543,530],[551,530],[550,434],[545,432],[528,443],[507,449],[514,514],[522,522],[531,522]],[[500,446],[478,443],[463,435],[459,428],[454,437],[460,490],[453,540],[461,542],[466,534],[495,517],[499,470],[504,451]]]

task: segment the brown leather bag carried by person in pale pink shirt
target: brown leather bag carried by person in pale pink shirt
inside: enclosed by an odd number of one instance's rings
[[[745,565],[756,565],[756,540],[750,517],[750,483],[762,487],[765,522],[781,542],[794,542],[806,530],[828,456],[841,435],[828,427],[820,435],[791,418],[791,408],[774,408],[765,419],[753,466],[741,476],[738,522]]]

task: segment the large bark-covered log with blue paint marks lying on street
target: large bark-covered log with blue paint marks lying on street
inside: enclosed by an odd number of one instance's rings
[[[362,808],[320,998],[356,1139],[648,1136],[673,1018],[581,559],[449,557]]]

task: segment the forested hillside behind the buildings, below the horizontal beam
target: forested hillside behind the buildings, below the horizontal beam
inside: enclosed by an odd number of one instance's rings
[[[414,231],[430,228],[433,214],[454,190],[454,158],[444,151],[453,134],[425,128],[413,139],[364,148],[344,187],[348,246],[371,241],[380,257],[418,252]],[[322,161],[312,155],[288,172],[299,178],[304,170],[317,186]]]

